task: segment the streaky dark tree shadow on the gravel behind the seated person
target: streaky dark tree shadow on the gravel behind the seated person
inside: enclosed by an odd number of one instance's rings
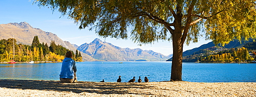
[[[36,89],[67,92],[89,92],[99,94],[145,94],[143,92],[132,92],[130,88],[153,88],[145,86],[145,83],[100,83],[100,82],[76,82],[61,83],[60,81],[39,81],[39,80],[0,80],[0,87],[13,89]]]

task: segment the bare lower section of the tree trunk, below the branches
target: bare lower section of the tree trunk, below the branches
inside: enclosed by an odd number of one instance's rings
[[[183,43],[181,35],[173,35],[173,62],[170,79],[173,81],[182,81],[182,52]]]

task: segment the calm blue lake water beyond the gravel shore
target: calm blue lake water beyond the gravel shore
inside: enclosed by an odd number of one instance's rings
[[[169,81],[172,62],[76,62],[78,81],[128,82],[141,76],[150,82]],[[59,80],[61,63],[0,64],[0,79]],[[189,82],[256,82],[256,64],[183,63],[182,80]]]

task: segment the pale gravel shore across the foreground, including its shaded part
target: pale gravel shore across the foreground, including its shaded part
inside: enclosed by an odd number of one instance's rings
[[[100,83],[0,80],[0,96],[256,96],[255,82]]]

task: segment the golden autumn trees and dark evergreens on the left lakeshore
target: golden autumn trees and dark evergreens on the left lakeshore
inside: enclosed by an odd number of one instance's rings
[[[13,43],[15,52],[13,52]],[[54,41],[51,42],[50,46],[44,42],[39,43],[38,36],[34,37],[32,45],[16,44],[16,39],[14,38],[0,40],[0,62],[8,62],[10,60],[15,60],[16,62],[61,62],[65,58],[67,51],[70,50],[62,45],[56,45]],[[81,54],[77,55],[77,57],[76,55],[74,56],[73,59],[75,61],[82,61]]]

